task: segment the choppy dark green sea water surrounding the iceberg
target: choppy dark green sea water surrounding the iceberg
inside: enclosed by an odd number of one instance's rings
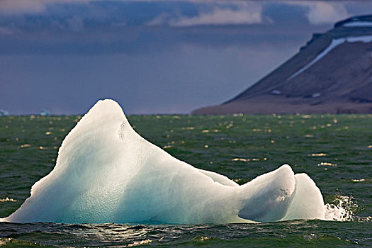
[[[55,165],[80,116],[0,117],[0,218]],[[150,142],[244,184],[290,164],[307,173],[346,221],[227,225],[65,225],[0,222],[5,247],[371,247],[372,115],[132,115]]]

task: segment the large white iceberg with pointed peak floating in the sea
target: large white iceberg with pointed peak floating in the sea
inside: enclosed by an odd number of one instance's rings
[[[135,133],[115,101],[98,101],[62,142],[55,168],[9,222],[227,223],[327,219],[314,181],[283,165],[239,186]]]

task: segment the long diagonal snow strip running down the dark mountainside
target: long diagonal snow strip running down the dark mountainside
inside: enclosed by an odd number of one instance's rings
[[[310,63],[306,64],[305,67],[302,67],[297,72],[293,73],[291,75],[291,77],[288,77],[287,80],[289,81],[291,79],[294,79],[299,74],[305,72],[305,70],[312,67],[313,64],[315,64],[316,62],[321,60],[323,57],[325,57],[325,55],[327,55],[330,51],[334,50],[335,47],[337,47],[337,46],[339,46],[339,45],[341,45],[345,42],[347,42],[347,43],[356,43],[356,42],[371,43],[372,42],[372,35],[363,35],[363,36],[355,36],[355,37],[351,36],[351,37],[333,39],[332,42],[328,45],[328,47],[325,48],[325,50],[323,50],[322,52],[320,52],[320,54],[317,55],[317,57],[315,57],[314,60],[312,60]]]

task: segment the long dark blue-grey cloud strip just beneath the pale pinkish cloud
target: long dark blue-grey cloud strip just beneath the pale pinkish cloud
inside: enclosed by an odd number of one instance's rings
[[[271,33],[266,33],[268,30]],[[89,33],[69,35],[60,34],[50,37],[39,35],[4,35],[0,38],[0,53],[10,54],[70,54],[100,55],[125,53],[146,53],[171,50],[181,44],[203,45],[206,47],[275,45],[293,43],[309,37],[309,32],[278,31],[268,27],[262,32],[260,27],[223,27],[208,26],[194,28],[125,28],[117,33]],[[102,37],[109,36],[109,37]]]

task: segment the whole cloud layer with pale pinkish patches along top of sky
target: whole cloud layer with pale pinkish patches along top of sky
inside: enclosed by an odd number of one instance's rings
[[[303,40],[314,29],[309,20],[315,19],[309,19],[309,13],[327,6],[325,14],[332,14],[339,6],[266,1],[77,0],[30,1],[17,9],[17,1],[6,2],[9,4],[0,5],[3,55],[135,53],[171,49],[181,43],[226,46]],[[329,23],[317,21],[316,28],[325,25]]]

